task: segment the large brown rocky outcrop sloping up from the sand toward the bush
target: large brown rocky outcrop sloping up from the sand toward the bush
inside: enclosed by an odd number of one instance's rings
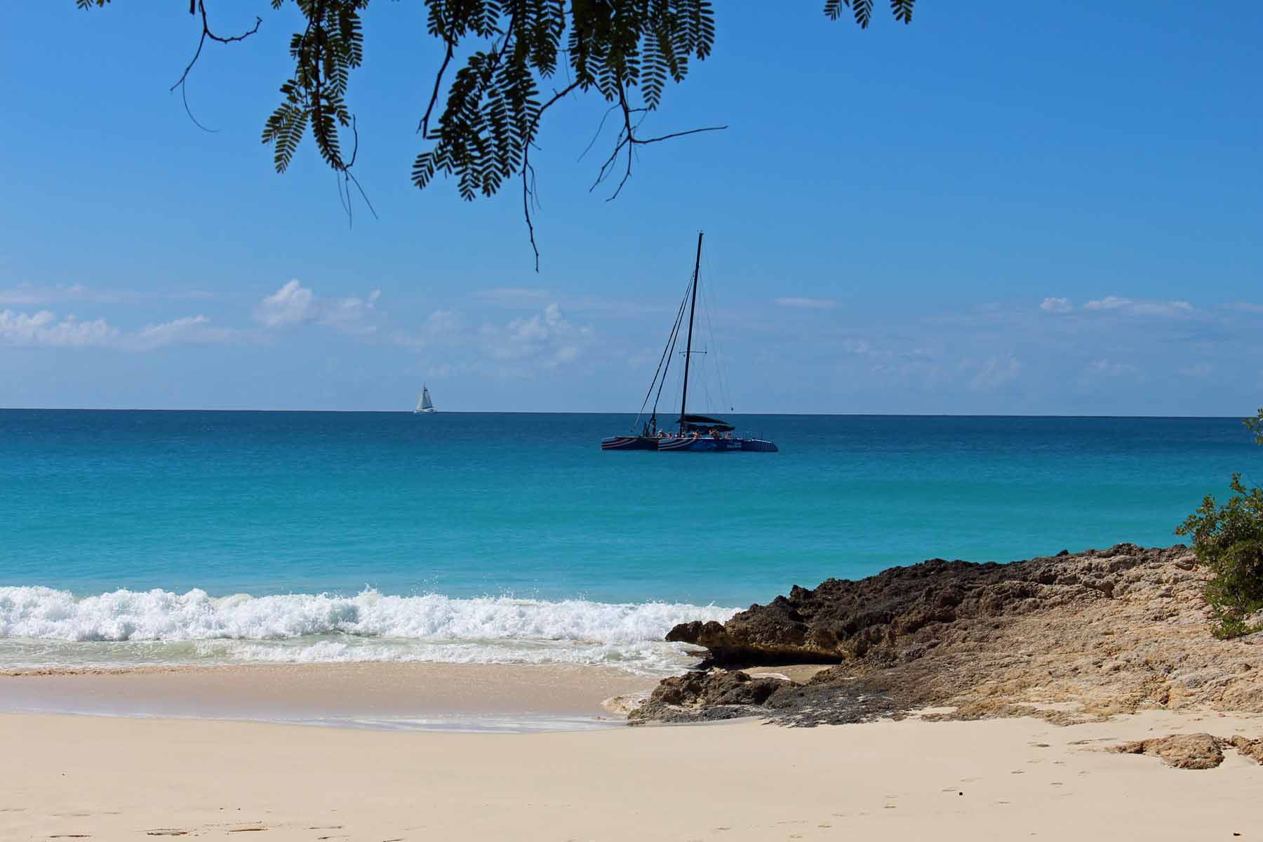
[[[834,664],[758,706],[796,725],[925,707],[1056,722],[1140,708],[1263,712],[1263,632],[1216,640],[1204,582],[1182,545],[935,559],[794,587],[722,625],[678,625],[668,640],[705,646],[709,667]]]

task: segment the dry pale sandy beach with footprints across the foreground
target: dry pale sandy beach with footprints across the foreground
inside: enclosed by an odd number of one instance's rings
[[[1255,737],[1263,718],[494,735],[4,715],[0,837],[1253,838],[1263,766],[1100,750],[1196,731]]]

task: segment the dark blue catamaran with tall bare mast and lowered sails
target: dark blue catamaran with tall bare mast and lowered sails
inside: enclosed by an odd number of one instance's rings
[[[693,276],[685,290],[685,298],[679,302],[676,312],[676,322],[667,337],[667,347],[658,360],[658,370],[653,374],[649,391],[644,395],[640,412],[637,415],[633,432],[628,436],[610,436],[601,439],[602,451],[662,451],[672,453],[774,453],[777,446],[765,438],[740,436],[735,433],[735,427],[721,418],[709,415],[690,414],[688,408],[688,369],[693,355],[693,316],[697,312],[697,280],[702,264],[702,232],[697,232],[697,258],[693,261]],[[662,388],[667,382],[667,372],[671,369],[671,360],[674,357],[676,341],[679,338],[679,328],[683,326],[685,311],[688,311],[688,335],[685,341],[685,379],[679,393],[679,418],[672,424],[673,429],[658,427],[658,399],[662,398]],[[655,391],[657,389],[657,391]],[[640,425],[644,409],[653,398],[653,409],[649,419]],[[637,429],[637,427],[639,429]]]

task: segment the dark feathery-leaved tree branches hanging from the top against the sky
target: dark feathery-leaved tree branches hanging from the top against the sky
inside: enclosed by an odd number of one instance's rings
[[[549,109],[576,92],[595,91],[611,104],[606,119],[616,115],[619,131],[592,183],[596,189],[616,177],[610,199],[632,177],[638,146],[726,127],[640,134],[645,115],[662,102],[667,80],[682,82],[691,61],[710,56],[715,43],[711,0],[423,1],[427,29],[438,42],[442,61],[417,126],[429,146],[413,162],[412,182],[424,189],[436,175],[453,178],[461,198],[472,201],[480,193],[495,196],[508,179],[520,179],[522,210],[537,270],[530,149]],[[109,3],[76,0],[81,9]],[[351,71],[364,61],[361,21],[369,0],[270,3],[273,9],[293,3],[306,25],[289,40],[294,71],[280,86],[282,102],[268,116],[261,140],[272,145],[277,172],[283,173],[309,130],[321,158],[341,175],[350,212],[350,188],[354,184],[359,189],[352,173],[359,133],[346,97]],[[890,0],[894,19],[911,23],[914,3]],[[172,86],[182,93],[207,40],[244,40],[261,24],[256,18],[253,29],[221,35],[211,27],[206,0],[189,0],[188,11],[200,23],[201,34],[192,59]],[[866,29],[873,20],[873,0],[826,0],[823,11],[830,20],[849,11]],[[453,62],[462,66],[448,82]],[[440,104],[445,82],[447,93]],[[344,131],[351,136],[349,154],[344,151]]]

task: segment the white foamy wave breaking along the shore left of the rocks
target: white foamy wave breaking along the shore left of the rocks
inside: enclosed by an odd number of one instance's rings
[[[404,597],[374,590],[354,597],[154,590],[77,598],[47,587],[0,587],[0,654],[10,648],[5,644],[20,646],[20,654],[15,649],[0,660],[27,661],[38,651],[38,665],[48,667],[169,658],[572,663],[663,672],[681,665],[681,649],[662,641],[674,624],[722,621],[734,611],[667,602]],[[168,656],[163,649],[171,649]]]

